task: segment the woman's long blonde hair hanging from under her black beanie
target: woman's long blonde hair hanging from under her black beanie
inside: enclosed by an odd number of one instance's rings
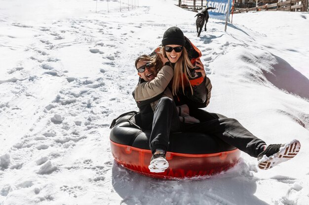
[[[166,52],[163,48],[161,49],[161,52],[163,56],[166,56]],[[156,55],[156,58],[155,58],[155,67],[158,69],[163,67],[163,63],[161,59],[158,57],[158,55]],[[177,95],[180,82],[182,84],[183,93],[185,94],[184,80],[188,82],[190,89],[191,89],[191,93],[193,94],[193,89],[192,89],[192,86],[189,80],[189,77],[192,78],[190,69],[193,69],[193,68],[194,66],[188,57],[188,52],[186,48],[183,47],[182,54],[174,65],[174,77],[173,77],[173,84],[172,84],[173,95]]]

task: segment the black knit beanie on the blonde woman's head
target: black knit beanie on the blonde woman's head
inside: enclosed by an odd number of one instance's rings
[[[162,46],[166,45],[181,45],[185,46],[185,36],[183,31],[178,27],[171,27],[167,29],[163,34]]]

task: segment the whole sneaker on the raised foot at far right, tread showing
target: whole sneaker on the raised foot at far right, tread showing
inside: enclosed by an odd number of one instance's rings
[[[287,144],[269,145],[258,155],[258,167],[268,170],[281,162],[285,162],[296,156],[301,148],[298,140]]]

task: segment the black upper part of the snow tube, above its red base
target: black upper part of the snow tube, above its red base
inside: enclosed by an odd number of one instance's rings
[[[120,117],[111,130],[110,139],[117,144],[149,150],[151,131],[142,130],[136,125],[135,117],[135,114]],[[197,132],[177,132],[170,134],[167,151],[186,154],[210,154],[233,149],[235,147],[223,142],[216,136]]]

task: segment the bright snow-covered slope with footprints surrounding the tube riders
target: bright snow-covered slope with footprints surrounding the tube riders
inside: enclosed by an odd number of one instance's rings
[[[227,32],[210,19],[197,37],[177,2],[0,0],[0,205],[309,205],[309,13],[238,14]],[[261,171],[242,153],[194,181],[114,162],[109,125],[137,110],[134,60],[171,26],[203,54],[206,110],[268,144],[298,139],[297,157]]]

